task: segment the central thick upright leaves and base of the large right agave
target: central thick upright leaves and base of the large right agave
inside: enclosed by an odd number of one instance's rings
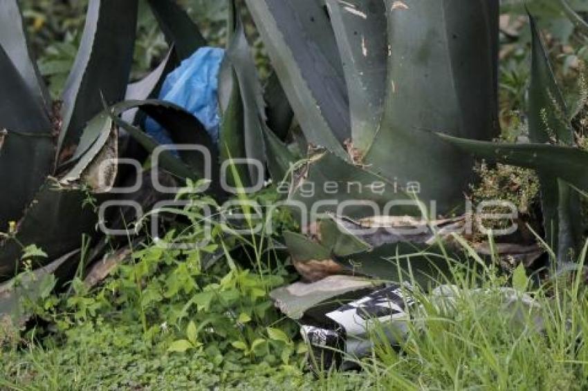
[[[315,229],[320,243],[297,233],[287,233],[286,241],[301,271],[309,261],[334,258],[348,268],[355,260],[360,273],[396,279],[398,269],[381,258],[397,254],[403,243],[402,256],[430,247],[430,233],[374,241],[342,228],[346,221],[382,225],[374,215],[391,201],[396,206],[384,213],[389,219],[380,228],[401,222],[394,216],[421,216],[421,206],[431,202],[433,220],[463,211],[463,193],[474,180],[472,157],[432,131],[497,137],[499,4],[324,3],[247,1],[313,149],[295,175],[290,200],[313,211],[311,218],[333,215]],[[310,196],[304,192],[309,185]],[[348,206],[342,211],[340,204]],[[443,229],[448,221],[436,224]]]

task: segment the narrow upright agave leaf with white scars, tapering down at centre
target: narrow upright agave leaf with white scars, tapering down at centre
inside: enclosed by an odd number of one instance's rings
[[[378,130],[386,95],[388,44],[383,0],[327,0],[341,53],[353,146],[365,153]]]

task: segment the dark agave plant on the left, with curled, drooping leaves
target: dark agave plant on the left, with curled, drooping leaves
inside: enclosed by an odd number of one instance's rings
[[[28,49],[17,1],[0,5],[0,182],[5,189],[0,207],[0,281],[27,267],[43,267],[36,274],[71,275],[82,260],[82,236],[98,245],[92,254],[104,250],[97,229],[102,202],[131,198],[148,209],[165,197],[147,184],[131,194],[111,192],[113,186],[135,183],[136,175],[143,175],[119,167],[117,159],[142,163],[144,150],[157,146],[134,126],[145,115],[165,126],[178,144],[214,148],[192,114],[148,99],[157,95],[178,61],[204,46],[205,40],[174,1],[152,1],[151,9],[172,50],[145,79],[129,84],[137,8],[137,0],[89,1],[75,64],[62,98],[52,102]],[[198,178],[202,162],[190,153],[166,152],[160,169],[183,181]],[[169,175],[161,175],[173,182]],[[120,209],[106,216],[119,229],[135,217]],[[33,245],[40,250],[25,251]],[[23,252],[32,264],[23,263]],[[1,296],[6,298],[4,291],[12,285],[4,285]]]

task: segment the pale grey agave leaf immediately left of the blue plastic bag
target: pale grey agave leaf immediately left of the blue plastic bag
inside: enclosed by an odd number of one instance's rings
[[[157,68],[152,70],[149,75],[143,77],[143,79],[140,79],[138,82],[129,84],[129,86],[127,86],[125,101],[156,98],[154,95],[156,95],[158,89],[163,84],[165,76],[167,76],[167,74],[172,70],[172,67],[175,66],[174,61],[170,61],[173,52],[174,49],[170,49],[167,52],[167,55],[165,55],[163,61],[161,61]],[[125,113],[122,113],[122,120],[132,124],[135,120],[137,111],[138,108],[125,111]]]

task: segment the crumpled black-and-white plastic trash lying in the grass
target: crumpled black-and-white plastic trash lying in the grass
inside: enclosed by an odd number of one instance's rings
[[[308,363],[311,370],[322,372],[333,368],[357,368],[357,361],[371,354],[374,340],[387,342],[401,350],[410,323],[420,330],[424,323],[417,319],[427,316],[423,303],[417,298],[421,296],[415,292],[414,287],[407,283],[387,285],[334,311],[323,312],[322,319],[316,315],[311,320],[302,318],[303,323],[313,323],[302,325],[300,330],[310,347]],[[511,288],[493,292],[502,296],[502,309],[510,314],[513,327],[517,323],[527,325],[526,317],[532,316],[535,331],[542,332],[543,320],[538,314],[540,306],[531,296]],[[426,300],[440,314],[452,318],[457,315],[456,302],[460,294],[457,286],[442,285],[426,296]],[[475,289],[470,294],[488,295],[490,292]],[[376,334],[378,338],[374,338]]]

